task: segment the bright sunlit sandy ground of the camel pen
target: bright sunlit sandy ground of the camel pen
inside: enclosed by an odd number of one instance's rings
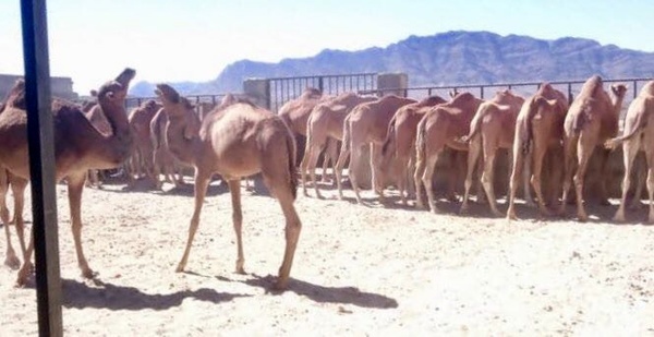
[[[432,215],[384,207],[371,192],[366,206],[351,191],[348,201],[334,190],[327,200],[300,195],[292,280],[277,294],[267,291],[283,251],[274,198],[243,193],[249,274],[237,275],[230,197],[214,183],[187,273],[178,274],[192,186],[122,188],[84,192],[84,248],[99,273],[84,280],[57,186],[66,336],[654,335],[654,227],[638,222],[645,208],[627,225],[607,221],[616,206],[591,208],[589,224],[542,221],[519,207],[526,220],[508,222],[485,205],[460,217],[446,202]],[[34,278],[20,289],[14,280],[0,266],[0,336],[36,335]]]

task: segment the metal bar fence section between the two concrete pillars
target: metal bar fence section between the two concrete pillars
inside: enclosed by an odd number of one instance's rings
[[[377,88],[376,73],[272,77],[267,81],[270,88],[268,94],[270,110],[272,111],[279,110],[284,103],[300,96],[307,87],[317,88],[326,95]]]

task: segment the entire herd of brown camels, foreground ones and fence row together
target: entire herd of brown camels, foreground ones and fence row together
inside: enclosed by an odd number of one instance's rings
[[[235,269],[244,273],[240,180],[261,173],[286,218],[286,250],[276,284],[278,289],[283,289],[289,280],[302,228],[294,207],[298,180],[301,179],[304,195],[308,195],[307,186],[313,186],[315,196],[322,197],[315,171],[323,153],[322,178],[327,179],[327,167],[331,163],[339,198],[343,197],[342,173],[349,161],[348,176],[355,200],[363,203],[360,168],[370,161],[372,189],[382,203],[387,203],[385,189],[393,184],[402,204],[414,200],[417,208],[433,213],[438,212],[433,180],[439,157],[446,148],[467,153],[461,213],[469,208],[473,173],[479,167],[485,195],[480,193],[477,201],[485,198],[494,215],[504,216],[497,207],[494,171],[498,149],[508,149],[507,218],[517,217],[514,202],[521,183],[530,204],[533,189],[543,215],[564,215],[566,204],[572,198],[570,188],[574,185],[577,216],[583,221],[588,214],[582,191],[591,154],[598,148],[600,171],[606,172],[608,154],[621,144],[626,174],[615,219],[625,220],[630,172],[635,155],[644,151],[649,221],[654,222],[654,121],[650,115],[654,111],[654,81],[649,82],[629,106],[623,135],[618,136],[627,87],[611,85],[607,93],[600,76],[589,79],[571,105],[548,83],[540,85],[526,98],[505,89],[489,100],[456,92],[450,93],[450,100],[431,96],[416,101],[396,95],[328,96],[307,88],[288,101],[278,115],[232,95],[225,96],[216,107],[194,106],[170,85],[159,84],[155,91],[158,101],[145,101],[128,115],[125,96],[134,76],[134,70],[125,69],[101,85],[94,93],[96,101],[86,106],[52,100],[56,177],[68,184],[77,262],[87,278],[93,277],[94,272],[82,248],[83,188],[94,176],[89,172],[122,165],[126,165],[129,184],[147,177],[157,188],[160,188],[161,174],[177,185],[183,182],[181,166],[195,169],[194,210],[178,272],[185,268],[207,188],[217,173],[231,193],[237,234]],[[21,80],[0,105],[0,220],[7,236],[5,265],[20,268],[19,285],[24,285],[33,270],[33,240],[25,244],[22,218],[24,190],[29,179],[25,109],[25,88]],[[300,172],[296,172],[294,135],[306,136]],[[370,146],[370,158],[363,155],[364,146]],[[548,157],[564,165],[544,169]],[[453,195],[455,179],[449,179],[446,195]],[[13,219],[7,207],[9,191],[14,196]],[[600,191],[601,201],[608,203],[604,185]],[[11,244],[11,222],[23,253],[22,266]]]

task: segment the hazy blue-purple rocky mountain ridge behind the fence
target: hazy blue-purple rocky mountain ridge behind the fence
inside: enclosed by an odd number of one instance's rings
[[[359,51],[325,49],[311,58],[279,63],[242,60],[210,82],[174,83],[183,94],[242,91],[247,77],[278,77],[355,72],[405,72],[410,86],[606,79],[654,75],[654,52],[602,46],[584,38],[556,40],[500,36],[488,32],[448,32],[410,36],[386,48]],[[140,82],[130,93],[152,96],[154,84]]]

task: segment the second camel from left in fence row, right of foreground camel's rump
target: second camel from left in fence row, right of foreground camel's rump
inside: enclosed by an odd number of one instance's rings
[[[329,156],[336,158],[336,141],[342,141],[343,139],[343,121],[346,120],[346,117],[355,106],[376,99],[377,97],[374,96],[359,96],[354,93],[342,93],[336,97],[326,99],[314,107],[308,117],[308,121],[306,122],[306,146],[304,158],[302,158],[302,163],[300,164],[304,195],[308,195],[306,192],[306,172],[308,171],[313,186],[316,191],[316,197],[323,198],[315,176],[316,164],[320,152],[327,146]],[[336,180],[338,183],[338,178]]]

